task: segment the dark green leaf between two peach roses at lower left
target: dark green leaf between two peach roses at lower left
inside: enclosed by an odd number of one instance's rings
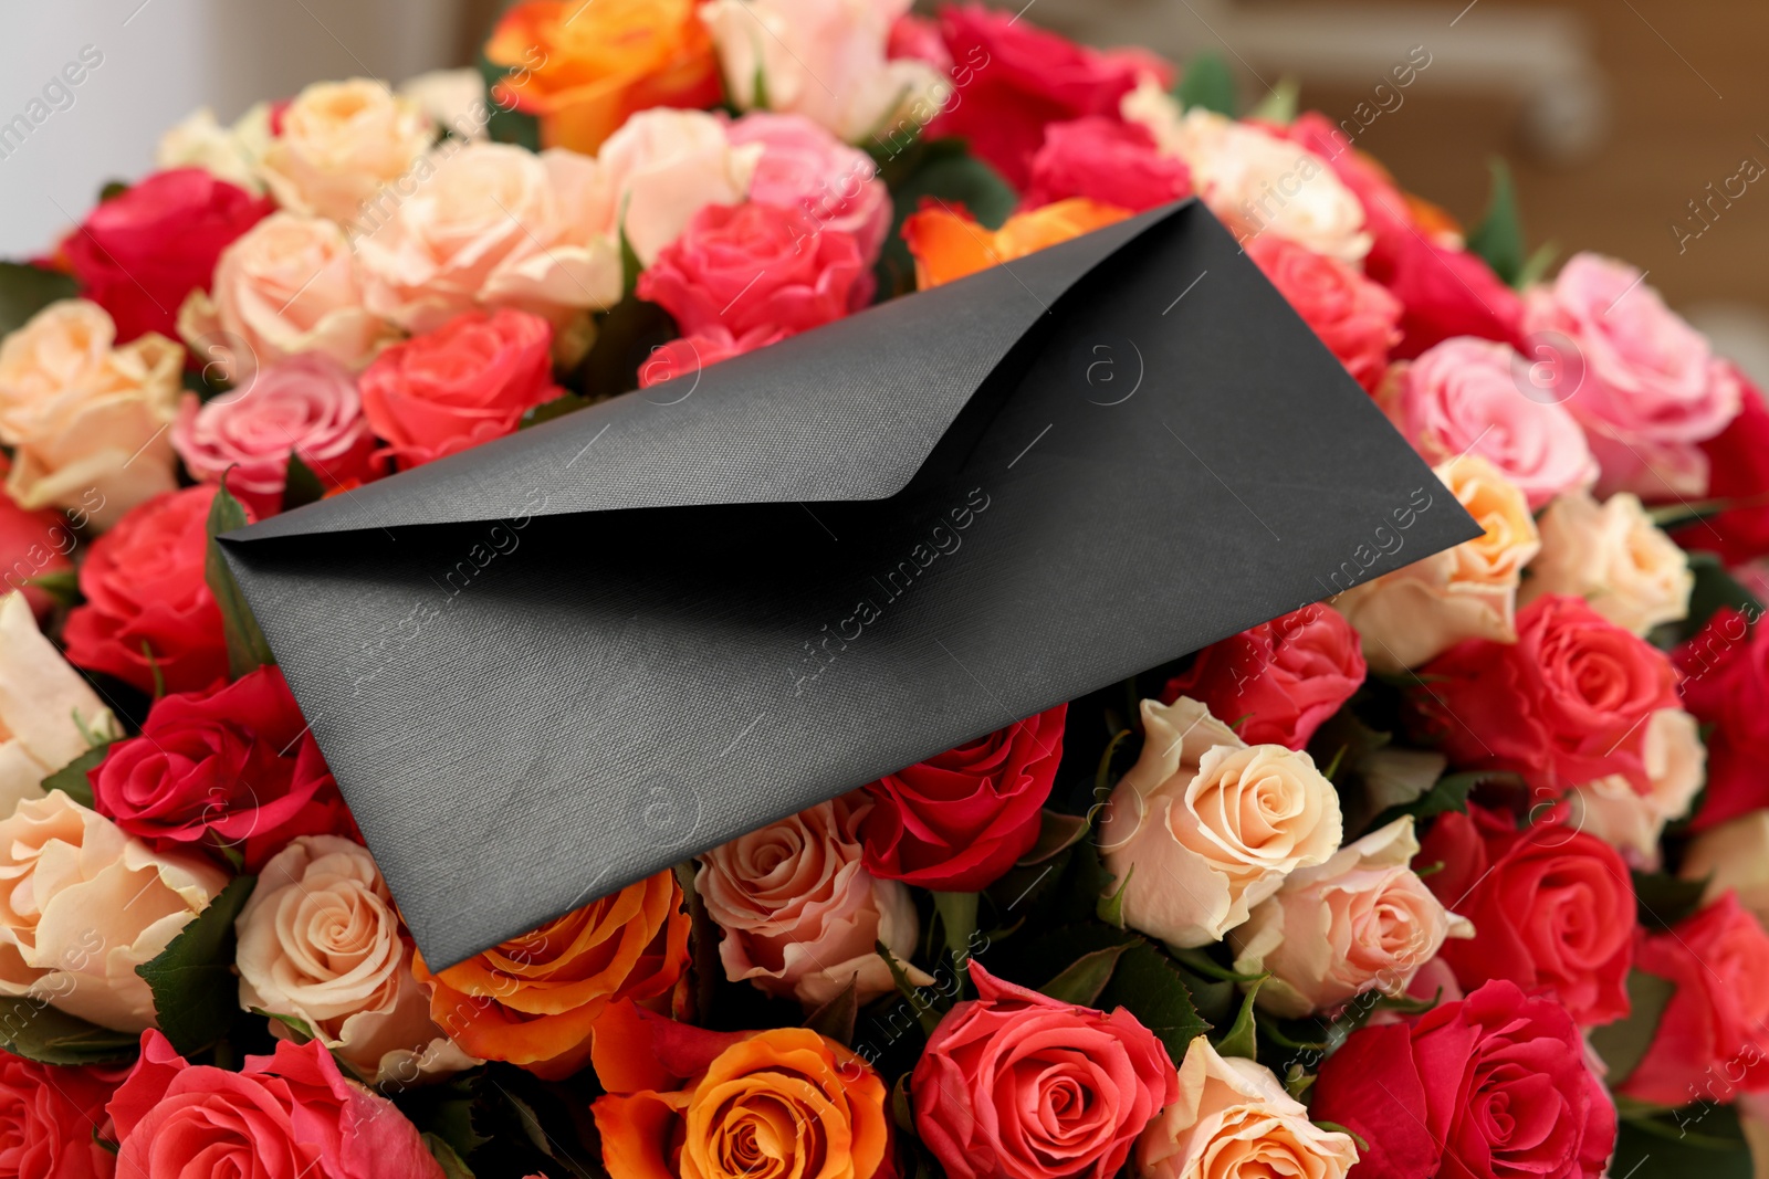
[[[251,896],[253,884],[253,877],[235,877],[157,958],[134,969],[154,993],[159,1031],[182,1055],[221,1039],[239,1013],[234,917]]]

